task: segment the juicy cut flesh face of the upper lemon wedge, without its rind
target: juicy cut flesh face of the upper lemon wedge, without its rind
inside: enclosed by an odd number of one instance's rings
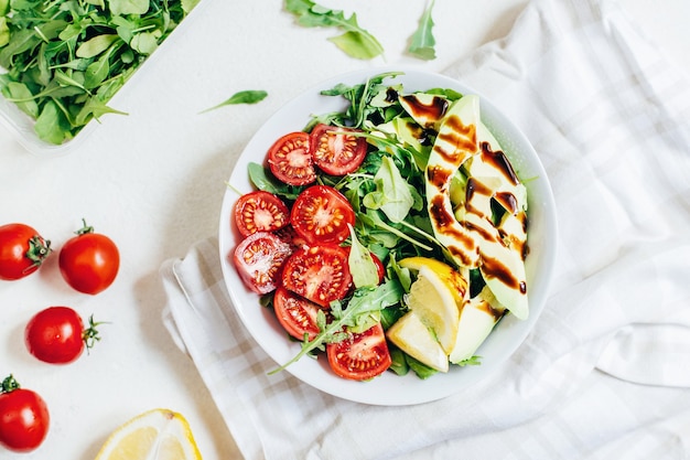
[[[428,265],[421,265],[407,295],[407,304],[432,330],[449,355],[455,345],[460,323],[459,293],[448,279]]]

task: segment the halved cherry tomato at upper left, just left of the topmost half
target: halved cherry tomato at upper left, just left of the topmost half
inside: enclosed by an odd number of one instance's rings
[[[309,135],[289,132],[268,150],[268,167],[278,180],[290,185],[306,185],[316,180]]]

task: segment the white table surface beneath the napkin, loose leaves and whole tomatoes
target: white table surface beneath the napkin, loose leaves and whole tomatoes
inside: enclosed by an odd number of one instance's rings
[[[436,58],[405,55],[425,2],[322,1],[346,12],[386,50],[357,61],[326,39],[333,30],[301,28],[283,2],[202,0],[117,97],[129,116],[103,125],[65,156],[25,151],[0,126],[0,224],[34,226],[58,249],[85,217],[121,252],[116,282],[91,297],[71,290],[56,254],[20,281],[0,281],[0,374],[39,392],[52,415],[43,446],[29,454],[0,448],[0,459],[89,460],[108,434],[144,410],[168,407],[190,421],[205,459],[239,458],[193,363],[161,322],[164,295],[158,270],[215,235],[224,181],[245,143],[282,104],[343,72],[406,64],[443,71],[476,46],[505,35],[525,0],[436,0]],[[690,74],[690,3],[621,0],[621,4]],[[265,89],[255,106],[198,113],[242,89]],[[48,306],[75,308],[109,321],[89,355],[67,366],[40,363],[23,344],[30,317]]]

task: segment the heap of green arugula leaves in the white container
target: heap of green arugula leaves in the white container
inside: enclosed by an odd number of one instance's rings
[[[200,0],[0,0],[0,92],[61,145],[107,103]]]

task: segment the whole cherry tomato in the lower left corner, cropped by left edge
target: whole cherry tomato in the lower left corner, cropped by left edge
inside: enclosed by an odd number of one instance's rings
[[[11,375],[0,387],[0,445],[15,452],[36,449],[47,435],[51,417],[37,393],[21,388]]]

